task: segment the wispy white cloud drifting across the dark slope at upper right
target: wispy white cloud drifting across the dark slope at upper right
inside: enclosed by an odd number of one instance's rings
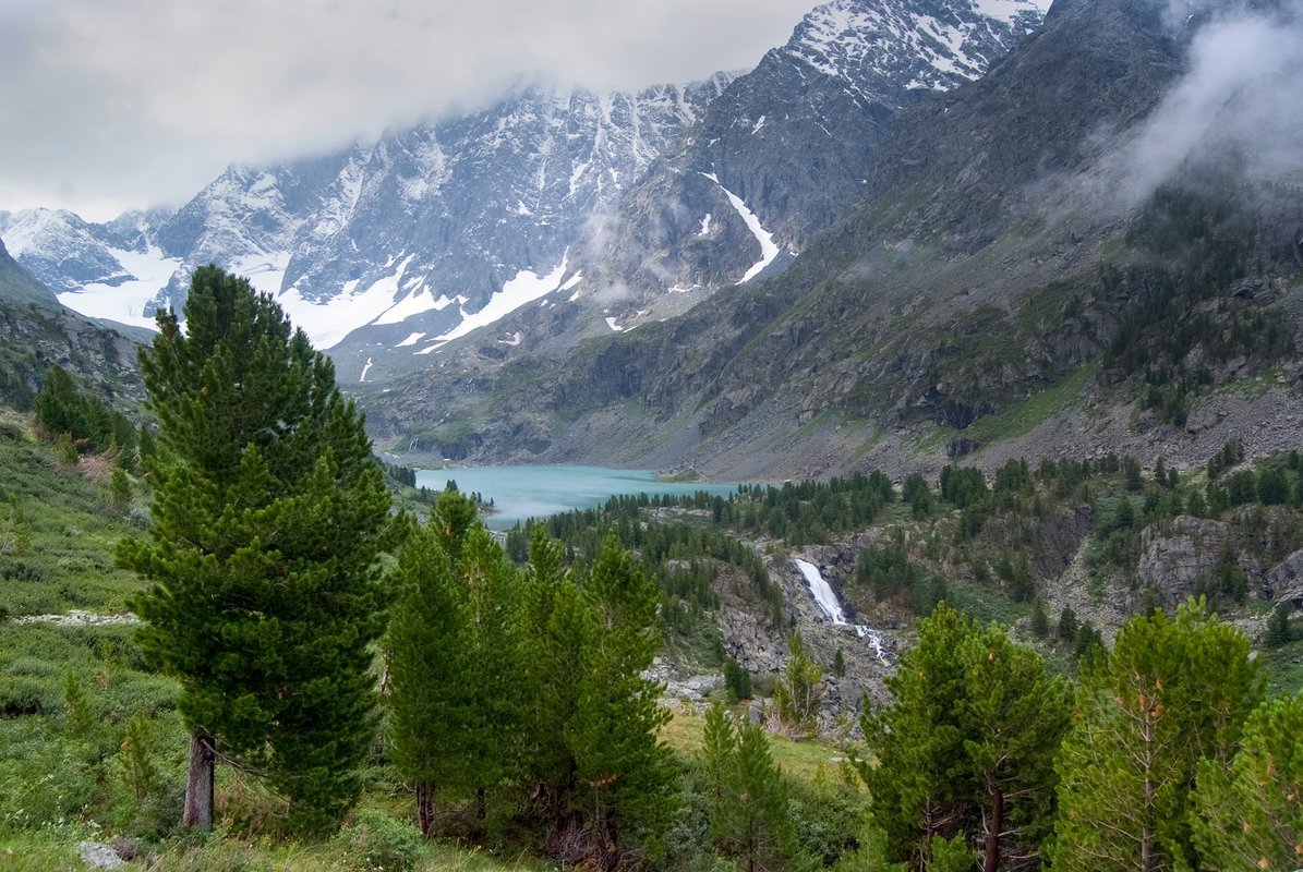
[[[1243,9],[1204,25],[1190,69],[1114,155],[1123,206],[1144,202],[1182,167],[1234,155],[1251,177],[1303,175],[1303,3]]]

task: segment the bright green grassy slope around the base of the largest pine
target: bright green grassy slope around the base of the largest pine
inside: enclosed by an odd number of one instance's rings
[[[496,821],[480,847],[413,839],[410,796],[380,747],[366,772],[361,809],[330,839],[281,841],[278,800],[228,766],[216,791],[219,832],[180,833],[186,731],[176,712],[179,687],[146,667],[129,613],[141,583],[112,559],[119,538],[147,527],[147,487],[132,478],[129,499],[115,499],[113,458],[74,460],[70,454],[38,438],[27,416],[0,411],[0,468],[7,471],[0,493],[0,865],[76,868],[76,843],[89,839],[130,846],[138,856],[132,868],[188,872],[379,868],[387,860],[366,865],[366,858],[384,851],[416,869],[551,868],[521,847],[526,842],[509,820]],[[405,501],[418,502],[409,491],[400,489]],[[701,716],[681,709],[662,734],[684,772],[692,769],[701,729]],[[843,798],[850,811],[839,838],[850,838],[864,802],[844,786],[844,755],[783,739],[775,739],[774,753],[795,778],[805,816],[827,796]],[[698,807],[689,803],[685,815],[684,825],[704,826],[694,817]],[[460,832],[460,825],[453,820],[450,829]],[[684,850],[697,849],[684,842]]]

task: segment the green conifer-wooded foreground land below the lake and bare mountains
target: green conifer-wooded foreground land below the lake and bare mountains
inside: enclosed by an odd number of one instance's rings
[[[1303,546],[1296,452],[624,497],[495,536],[386,476],[248,282],[198,270],[180,321],[143,408],[55,368],[0,424],[5,868],[78,842],[159,869],[1299,865],[1299,628],[1244,570]],[[1068,519],[1081,615],[1050,605]],[[1225,555],[1143,576],[1191,521]],[[902,644],[834,712],[848,657],[774,568],[847,540],[842,598]],[[782,669],[724,645],[726,609]],[[665,699],[662,658],[718,675],[709,701]]]

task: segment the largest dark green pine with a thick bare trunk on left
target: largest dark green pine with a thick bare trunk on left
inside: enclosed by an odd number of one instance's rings
[[[146,656],[181,682],[184,822],[212,825],[218,757],[267,774],[289,825],[356,799],[375,730],[377,555],[390,498],[331,362],[270,296],[207,266],[142,352],[159,421],[152,527],[119,562],[152,583]]]

